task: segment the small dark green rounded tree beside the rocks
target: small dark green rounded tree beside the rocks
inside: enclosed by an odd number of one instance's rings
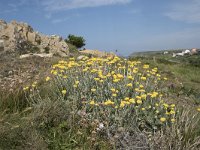
[[[75,36],[75,35],[69,34],[68,38],[65,39],[65,42],[70,43],[76,46],[77,48],[81,48],[85,46],[85,39],[82,36]]]

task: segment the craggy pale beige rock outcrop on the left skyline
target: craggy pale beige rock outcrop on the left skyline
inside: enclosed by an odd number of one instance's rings
[[[69,54],[68,45],[57,36],[35,32],[27,23],[0,20],[0,52],[17,51],[20,54],[52,53],[62,57]]]

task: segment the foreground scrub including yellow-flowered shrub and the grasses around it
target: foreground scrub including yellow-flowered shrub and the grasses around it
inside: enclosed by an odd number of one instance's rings
[[[2,93],[0,148],[200,149],[199,68],[158,61],[58,61],[18,93]]]

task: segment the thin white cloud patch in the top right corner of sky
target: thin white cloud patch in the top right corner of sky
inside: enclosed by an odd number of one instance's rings
[[[200,0],[179,1],[172,6],[171,11],[165,13],[173,20],[187,23],[200,23]]]

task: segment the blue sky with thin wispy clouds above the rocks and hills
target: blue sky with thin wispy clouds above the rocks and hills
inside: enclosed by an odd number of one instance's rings
[[[1,0],[0,19],[122,55],[200,47],[200,0]]]

